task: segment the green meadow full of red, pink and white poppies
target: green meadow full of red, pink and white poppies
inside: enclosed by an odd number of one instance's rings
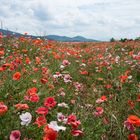
[[[140,139],[140,41],[0,34],[0,140],[127,139]]]

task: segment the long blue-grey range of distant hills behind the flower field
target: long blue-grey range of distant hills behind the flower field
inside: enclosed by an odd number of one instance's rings
[[[0,29],[0,32],[2,32],[4,35],[15,35],[15,36],[26,36],[26,37],[32,37],[32,38],[46,38],[48,40],[55,40],[55,41],[62,41],[62,42],[99,42],[98,40],[94,39],[87,39],[82,36],[75,36],[75,37],[67,37],[67,36],[59,36],[59,35],[47,35],[47,36],[34,36],[34,35],[24,35],[21,33],[9,31],[9,30],[3,30]]]

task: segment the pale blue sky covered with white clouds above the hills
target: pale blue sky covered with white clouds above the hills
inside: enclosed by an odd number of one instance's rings
[[[140,36],[140,0],[0,0],[4,29],[98,40]]]

